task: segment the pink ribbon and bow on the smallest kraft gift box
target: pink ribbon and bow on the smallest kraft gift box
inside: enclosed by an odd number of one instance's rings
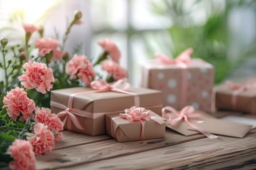
[[[144,127],[145,127],[145,121],[154,120],[159,124],[165,123],[164,120],[159,119],[158,117],[153,116],[155,113],[153,113],[150,110],[146,110],[144,107],[136,107],[132,106],[129,109],[124,110],[125,113],[120,113],[119,117],[115,117],[111,119],[111,133],[112,136],[115,136],[115,132],[113,129],[113,120],[115,119],[127,119],[128,121],[137,121],[141,127],[140,130],[140,140],[144,140]]]

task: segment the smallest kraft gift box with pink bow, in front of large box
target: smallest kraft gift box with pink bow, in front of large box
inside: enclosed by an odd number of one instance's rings
[[[107,114],[107,134],[118,142],[165,137],[165,119],[151,110],[133,106],[124,113]]]

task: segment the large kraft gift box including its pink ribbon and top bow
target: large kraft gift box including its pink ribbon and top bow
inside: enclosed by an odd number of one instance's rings
[[[96,136],[106,134],[105,114],[120,113],[136,105],[160,115],[161,95],[158,90],[130,87],[125,80],[111,85],[96,80],[91,88],[51,91],[51,110],[63,121],[64,129]]]

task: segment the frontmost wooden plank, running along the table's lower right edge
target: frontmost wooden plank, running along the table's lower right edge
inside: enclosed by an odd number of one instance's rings
[[[69,168],[66,168],[69,169]],[[65,169],[65,170],[66,170]],[[204,138],[72,167],[76,170],[256,169],[256,130],[245,138]]]

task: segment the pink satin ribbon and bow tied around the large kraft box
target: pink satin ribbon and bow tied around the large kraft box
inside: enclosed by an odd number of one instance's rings
[[[65,117],[64,120],[63,120],[63,124],[67,123],[67,129],[68,130],[72,129],[72,127],[71,127],[72,122],[74,123],[74,125],[78,129],[84,130],[84,128],[82,127],[82,125],[79,122],[79,119],[77,118],[76,115],[79,115],[79,116],[83,115],[83,117],[87,117],[87,118],[92,117],[92,115],[91,115],[92,113],[72,108],[74,97],[76,95],[87,94],[87,93],[95,93],[95,92],[104,92],[104,91],[115,91],[115,92],[119,92],[119,93],[125,93],[125,94],[133,95],[135,105],[139,106],[139,96],[138,96],[138,94],[125,91],[126,89],[128,89],[130,87],[130,83],[127,82],[126,80],[121,79],[121,80],[118,80],[113,85],[109,85],[106,81],[99,79],[99,80],[93,81],[91,83],[91,87],[95,90],[71,94],[69,99],[68,99],[67,107],[63,104],[58,103],[58,102],[51,101],[51,106],[58,107],[58,108],[61,108],[61,109],[65,109],[65,110],[59,112],[57,115],[58,115],[58,117]],[[111,113],[115,113],[115,112],[111,112]],[[107,114],[107,113],[98,113],[97,115],[100,117],[100,116],[105,115],[105,114]]]

